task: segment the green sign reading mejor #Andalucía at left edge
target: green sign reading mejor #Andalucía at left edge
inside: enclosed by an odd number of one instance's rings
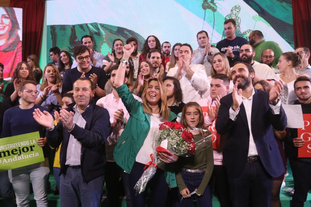
[[[39,138],[39,132],[32,132],[0,139],[0,171],[44,161]]]

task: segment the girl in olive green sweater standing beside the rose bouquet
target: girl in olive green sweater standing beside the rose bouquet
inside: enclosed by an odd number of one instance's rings
[[[206,137],[204,116],[201,107],[196,102],[188,102],[182,111],[181,123],[193,133],[194,142]],[[196,128],[193,130],[193,128]],[[207,145],[211,143],[207,143]],[[179,187],[180,206],[193,206],[196,197],[197,205],[212,206],[211,191],[208,182],[214,167],[213,148],[210,146],[203,151],[194,152],[191,157],[180,157],[176,181]],[[192,192],[194,195],[190,195]]]

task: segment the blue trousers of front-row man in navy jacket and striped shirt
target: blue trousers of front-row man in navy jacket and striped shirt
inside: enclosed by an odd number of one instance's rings
[[[68,167],[66,174],[60,176],[60,205],[61,207],[100,207],[103,185],[104,175],[85,183],[81,169]]]

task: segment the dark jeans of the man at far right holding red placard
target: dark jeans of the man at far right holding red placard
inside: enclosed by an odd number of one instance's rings
[[[311,185],[311,163],[290,160],[290,168],[293,172],[295,189],[291,206],[302,207],[307,200]]]

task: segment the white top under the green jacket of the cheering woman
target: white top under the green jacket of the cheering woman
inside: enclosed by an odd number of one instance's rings
[[[155,149],[152,146],[152,142],[155,142],[157,138],[156,136],[159,132],[159,124],[162,123],[159,114],[152,114],[152,116],[150,116],[150,129],[142,147],[136,155],[136,162],[147,164],[151,161],[150,154],[153,154]]]

